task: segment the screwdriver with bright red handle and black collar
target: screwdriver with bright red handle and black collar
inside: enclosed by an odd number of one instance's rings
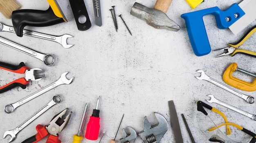
[[[85,138],[90,139],[90,140],[97,140],[99,136],[99,120],[101,119],[99,117],[99,99],[100,96],[98,97],[96,108],[93,109],[92,116],[90,116],[89,122],[86,127],[86,132],[85,132]]]

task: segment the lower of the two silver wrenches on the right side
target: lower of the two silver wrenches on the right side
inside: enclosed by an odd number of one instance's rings
[[[220,100],[214,98],[213,95],[207,95],[207,96],[211,98],[211,100],[206,100],[207,102],[220,104],[220,105],[222,105],[222,106],[224,106],[224,107],[227,107],[227,108],[229,108],[229,109],[231,109],[231,110],[233,110],[233,111],[236,111],[237,113],[240,113],[240,114],[242,114],[242,115],[245,115],[245,116],[247,116],[247,117],[253,119],[254,121],[256,121],[256,115],[249,114],[249,113],[247,113],[247,112],[245,112],[245,111],[243,111],[243,110],[240,110],[240,109],[238,109],[238,108],[236,108],[236,107],[234,107],[234,106],[231,106],[231,105],[229,105],[229,104],[227,104],[227,103],[225,103],[225,102],[222,102],[222,101],[220,101]]]

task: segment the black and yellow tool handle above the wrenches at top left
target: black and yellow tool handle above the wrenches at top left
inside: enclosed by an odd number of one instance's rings
[[[47,2],[50,6],[46,11],[34,9],[13,11],[11,20],[17,36],[23,36],[23,28],[25,26],[43,27],[67,22],[58,2],[56,0],[47,0]]]

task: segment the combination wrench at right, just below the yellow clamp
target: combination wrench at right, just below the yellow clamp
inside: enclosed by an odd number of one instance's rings
[[[214,80],[213,78],[210,78],[209,76],[207,76],[203,70],[198,70],[196,72],[200,72],[201,76],[200,77],[196,77],[198,80],[207,80],[211,83],[213,83],[214,85],[217,85],[218,87],[221,87],[222,89],[225,89],[231,93],[233,93],[234,95],[237,95],[240,98],[243,98],[245,101],[247,101],[249,104],[253,104],[255,102],[254,97],[252,96],[248,96],[245,95],[243,93],[240,93],[234,89],[231,89],[230,87],[228,87],[227,85],[223,85],[222,83],[218,82],[217,80]]]

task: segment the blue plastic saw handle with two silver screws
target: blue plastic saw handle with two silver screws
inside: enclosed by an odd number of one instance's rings
[[[227,29],[240,17],[245,15],[243,9],[236,3],[222,11],[217,6],[181,15],[186,23],[189,40],[196,56],[204,56],[211,52],[211,46],[204,26],[203,16],[213,14],[218,28]]]

